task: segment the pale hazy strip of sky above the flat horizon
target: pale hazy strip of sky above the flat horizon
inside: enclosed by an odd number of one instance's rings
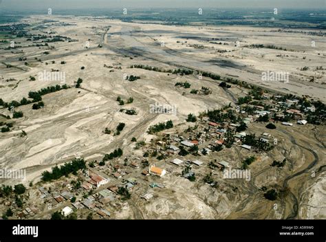
[[[0,10],[103,8],[287,8],[326,10],[326,0],[0,0]]]

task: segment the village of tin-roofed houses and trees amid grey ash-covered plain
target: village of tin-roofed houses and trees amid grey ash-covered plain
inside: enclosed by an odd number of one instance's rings
[[[259,101],[252,101],[258,92]],[[124,156],[119,148],[102,161],[76,157],[72,168],[56,166],[52,173],[43,173],[43,181],[31,183],[27,189],[19,191],[15,186],[12,191],[2,186],[3,219],[114,219],[116,211],[123,210],[129,199],[151,203],[160,196],[167,176],[221,189],[220,185],[228,186],[230,179],[245,178],[239,173],[233,177],[231,169],[248,170],[250,163],[259,162],[263,154],[281,145],[275,129],[301,129],[309,125],[307,115],[323,110],[307,105],[304,98],[274,96],[261,89],[251,94],[239,98],[236,107],[204,111],[198,117],[190,113],[185,124],[164,131],[156,132],[151,127],[157,138],[150,143],[133,138],[135,153],[131,155]],[[314,118],[314,122],[325,122],[323,115],[318,116],[321,121]],[[265,126],[265,130],[254,133],[257,125]],[[245,162],[232,159],[226,151],[232,147],[241,151]],[[222,150],[226,153],[220,155]],[[224,170],[230,170],[230,175],[226,176]],[[63,174],[54,175],[60,172]]]

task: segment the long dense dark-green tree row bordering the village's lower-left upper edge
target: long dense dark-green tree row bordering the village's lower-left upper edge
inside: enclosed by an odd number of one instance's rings
[[[70,173],[76,175],[78,170],[82,170],[86,168],[86,163],[84,159],[74,159],[72,162],[65,163],[60,168],[55,166],[52,168],[52,172],[44,171],[42,173],[43,181],[52,181],[59,179],[60,177],[67,176]]]

